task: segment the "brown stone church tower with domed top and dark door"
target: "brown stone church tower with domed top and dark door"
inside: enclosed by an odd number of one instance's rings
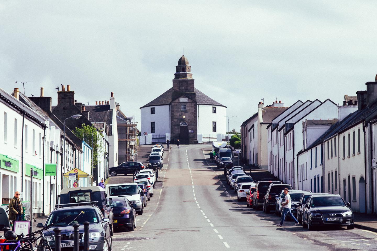
[[[197,142],[197,102],[189,60],[182,55],[175,67],[170,103],[170,132],[182,144]]]

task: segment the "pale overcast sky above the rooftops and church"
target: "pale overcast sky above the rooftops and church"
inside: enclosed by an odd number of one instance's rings
[[[195,87],[227,106],[230,128],[276,98],[366,90],[377,73],[374,1],[1,1],[0,87],[139,107],[172,87],[184,54]],[[139,122],[140,123],[140,122]],[[140,128],[140,126],[138,126]]]

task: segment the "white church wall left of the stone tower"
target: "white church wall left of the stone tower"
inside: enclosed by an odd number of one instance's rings
[[[155,108],[155,114],[150,114],[150,108]],[[154,134],[166,134],[170,132],[170,105],[148,106],[140,109],[141,135],[150,132],[150,122],[155,122]]]

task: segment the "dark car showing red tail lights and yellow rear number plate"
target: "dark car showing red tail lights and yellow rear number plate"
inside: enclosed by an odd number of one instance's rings
[[[136,228],[136,210],[126,197],[109,197],[114,213],[114,227],[126,227],[128,231]],[[135,205],[135,204],[134,204]],[[135,205],[136,206],[136,205]]]

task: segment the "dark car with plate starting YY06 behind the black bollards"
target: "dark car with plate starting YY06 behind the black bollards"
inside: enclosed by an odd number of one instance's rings
[[[105,197],[106,200],[106,197]],[[89,204],[89,203],[88,203]],[[45,224],[38,223],[37,227],[48,227],[43,231],[43,236],[48,240],[52,250],[55,250],[55,238],[53,229],[61,229],[61,247],[62,250],[73,250],[74,234],[73,224],[80,224],[79,239],[80,250],[84,250],[84,222],[89,224],[89,245],[94,251],[103,251],[112,249],[112,237],[110,230],[110,219],[104,218],[100,208],[97,205],[78,205],[70,207],[61,207],[53,210]],[[64,248],[64,249],[63,249]]]

